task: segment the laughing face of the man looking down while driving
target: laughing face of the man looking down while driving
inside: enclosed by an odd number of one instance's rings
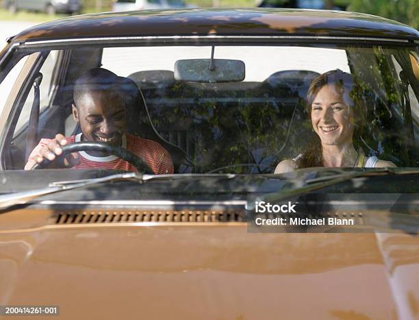
[[[122,145],[126,117],[123,97],[109,91],[91,91],[73,105],[73,117],[80,124],[84,140]]]

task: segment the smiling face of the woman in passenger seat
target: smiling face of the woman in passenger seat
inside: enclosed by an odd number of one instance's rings
[[[342,89],[322,86],[312,103],[312,125],[322,145],[349,143],[353,136],[353,110],[344,102]]]

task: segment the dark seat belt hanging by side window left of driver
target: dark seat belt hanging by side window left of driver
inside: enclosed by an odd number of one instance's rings
[[[31,113],[29,115],[29,123],[27,125],[27,138],[26,138],[26,151],[25,163],[29,159],[29,155],[38,143],[38,121],[39,121],[39,106],[40,106],[40,93],[39,86],[42,82],[42,73],[34,80],[34,102],[32,103]]]

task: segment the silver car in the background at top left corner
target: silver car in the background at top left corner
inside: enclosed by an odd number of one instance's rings
[[[18,10],[46,12],[47,14],[81,12],[79,0],[5,0],[3,6],[12,13]]]

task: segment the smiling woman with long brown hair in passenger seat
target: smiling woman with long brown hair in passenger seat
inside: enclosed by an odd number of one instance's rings
[[[360,130],[366,108],[354,89],[353,77],[339,69],[313,80],[307,93],[307,111],[316,132],[314,142],[305,153],[279,162],[275,173],[307,167],[396,167],[362,152]]]

